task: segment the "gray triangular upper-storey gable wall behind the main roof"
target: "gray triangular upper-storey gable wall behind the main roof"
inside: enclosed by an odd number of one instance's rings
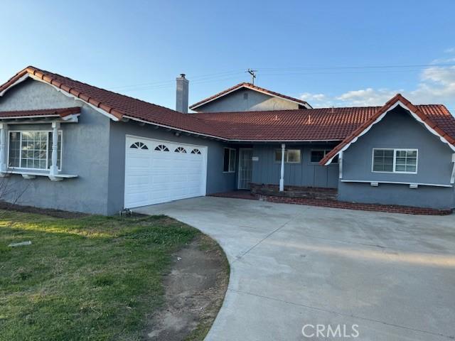
[[[243,95],[248,94],[248,99]],[[197,112],[252,112],[262,110],[299,109],[299,104],[285,99],[262,94],[261,92],[241,89],[215,99],[213,102],[196,109]]]

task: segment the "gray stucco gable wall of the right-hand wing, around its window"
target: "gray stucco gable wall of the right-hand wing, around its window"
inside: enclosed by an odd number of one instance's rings
[[[372,171],[373,148],[417,148],[417,174],[375,173]],[[450,185],[453,151],[413,119],[401,107],[360,137],[343,154],[343,180],[392,181]],[[411,205],[419,207],[455,207],[454,188],[419,185],[347,183],[338,185],[338,199],[355,202]]]

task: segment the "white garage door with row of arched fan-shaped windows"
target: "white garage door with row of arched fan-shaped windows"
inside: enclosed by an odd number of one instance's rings
[[[207,147],[127,136],[125,208],[205,195]]]

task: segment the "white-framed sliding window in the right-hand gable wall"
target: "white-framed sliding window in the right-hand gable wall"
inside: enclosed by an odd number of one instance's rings
[[[373,148],[373,172],[417,173],[417,149]]]

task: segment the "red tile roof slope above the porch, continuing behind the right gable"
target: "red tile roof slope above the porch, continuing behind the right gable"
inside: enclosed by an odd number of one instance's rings
[[[444,105],[416,106],[455,136],[455,118]],[[381,107],[344,107],[270,112],[218,112],[191,114],[210,122],[229,139],[249,141],[343,140],[375,116]]]

